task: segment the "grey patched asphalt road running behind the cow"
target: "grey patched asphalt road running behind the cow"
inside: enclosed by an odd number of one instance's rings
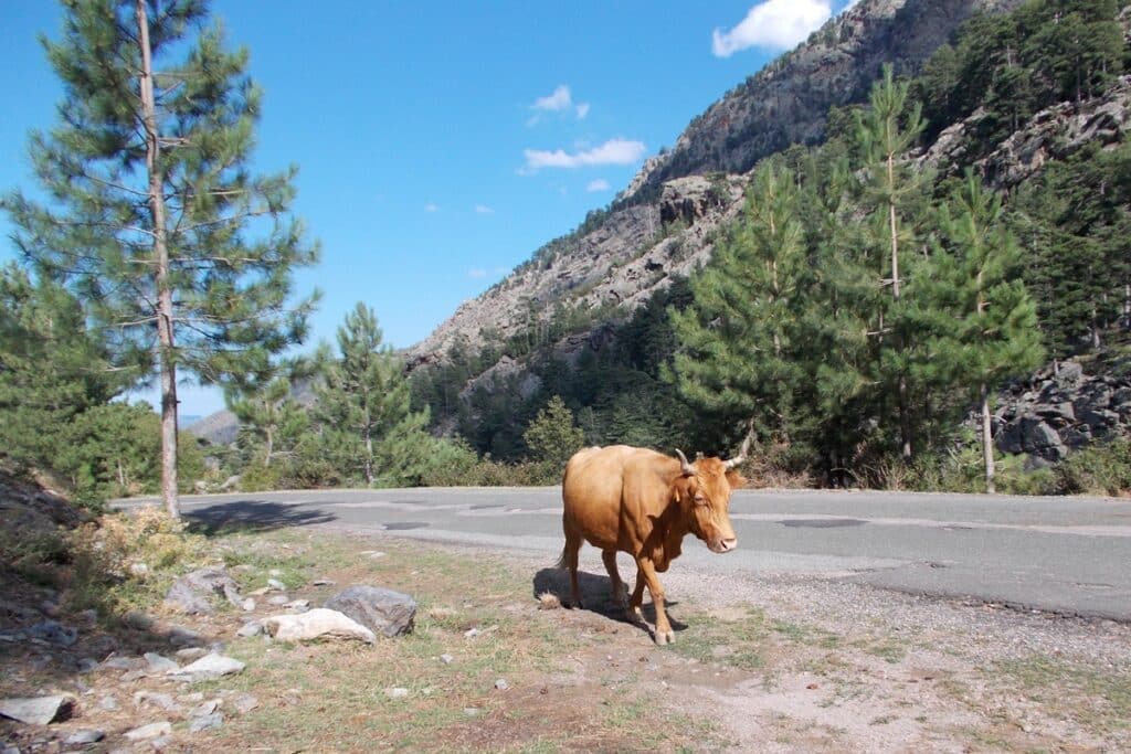
[[[121,501],[124,506],[149,501]],[[210,526],[327,523],[364,532],[526,551],[556,560],[561,492],[537,488],[334,489],[187,496]],[[739,548],[689,536],[680,563],[844,579],[884,589],[1131,622],[1131,501],[862,492],[740,491]],[[581,567],[602,573],[592,547]],[[633,571],[625,556],[622,572]],[[677,567],[677,566],[676,566]]]

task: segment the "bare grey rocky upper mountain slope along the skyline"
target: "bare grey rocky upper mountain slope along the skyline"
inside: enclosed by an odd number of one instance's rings
[[[759,159],[820,141],[829,107],[864,101],[882,63],[915,72],[972,14],[1019,1],[861,0],[697,116],[671,151],[645,163],[612,207],[595,214],[597,222],[590,217],[464,303],[408,349],[411,366],[442,363],[457,343],[504,344],[563,314],[593,326],[628,317],[672,275],[710,258]],[[567,353],[584,340],[577,332],[562,340]]]

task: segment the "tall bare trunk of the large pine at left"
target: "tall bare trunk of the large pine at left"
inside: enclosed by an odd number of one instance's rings
[[[157,341],[161,359],[161,496],[169,514],[180,518],[181,504],[176,492],[176,357],[173,350],[173,291],[169,280],[169,245],[165,239],[164,177],[159,163],[161,142],[157,133],[157,104],[153,93],[153,55],[146,0],[137,0],[135,8],[141,46],[139,88],[156,262],[154,276],[157,286]]]

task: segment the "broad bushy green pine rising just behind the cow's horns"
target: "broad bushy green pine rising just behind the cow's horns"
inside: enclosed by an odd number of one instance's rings
[[[808,270],[794,176],[763,163],[742,218],[691,278],[694,303],[671,310],[681,344],[673,376],[685,399],[788,439],[804,382],[795,354]]]

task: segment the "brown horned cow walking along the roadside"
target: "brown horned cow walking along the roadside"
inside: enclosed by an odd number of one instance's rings
[[[736,458],[700,458],[694,463],[679,450],[677,459],[628,445],[578,451],[566,465],[562,479],[566,548],[559,562],[570,572],[572,604],[581,604],[577,556],[585,539],[601,551],[613,582],[613,599],[625,608],[629,621],[644,623],[640,607],[647,584],[656,607],[656,643],[675,641],[656,572],[667,571],[679,557],[689,531],[714,553],[735,548],[739,540],[727,509],[731,491],[744,483],[734,467],[745,459],[749,447],[748,436]],[[616,572],[618,551],[637,562],[631,601]]]

